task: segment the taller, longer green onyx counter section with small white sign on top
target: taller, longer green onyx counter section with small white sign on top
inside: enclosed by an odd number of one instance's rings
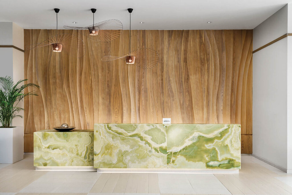
[[[240,169],[237,124],[95,124],[94,168]]]

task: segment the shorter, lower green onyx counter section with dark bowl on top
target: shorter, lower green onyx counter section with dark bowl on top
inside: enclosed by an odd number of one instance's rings
[[[93,166],[93,130],[34,132],[34,166]]]

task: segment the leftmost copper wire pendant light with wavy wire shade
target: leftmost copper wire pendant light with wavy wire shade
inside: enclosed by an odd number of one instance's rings
[[[54,8],[57,15],[57,32],[56,35],[46,39],[41,43],[35,43],[27,47],[28,50],[51,45],[54,52],[64,51],[70,56],[82,58],[85,55],[86,47],[82,39],[74,34],[58,34],[58,13],[60,9]]]

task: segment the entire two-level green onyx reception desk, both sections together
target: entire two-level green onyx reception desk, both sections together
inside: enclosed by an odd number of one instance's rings
[[[237,124],[95,124],[94,131],[34,132],[34,166],[38,170],[94,167],[105,172],[238,171],[240,146]]]

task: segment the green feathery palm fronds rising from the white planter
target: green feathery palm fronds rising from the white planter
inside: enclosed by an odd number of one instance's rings
[[[11,77],[0,77],[0,122],[3,127],[10,127],[13,118],[20,117],[20,111],[24,108],[18,107],[18,102],[28,96],[37,96],[35,91],[24,92],[25,88],[39,88],[39,85],[34,83],[23,84],[25,80],[19,80],[14,84]]]

